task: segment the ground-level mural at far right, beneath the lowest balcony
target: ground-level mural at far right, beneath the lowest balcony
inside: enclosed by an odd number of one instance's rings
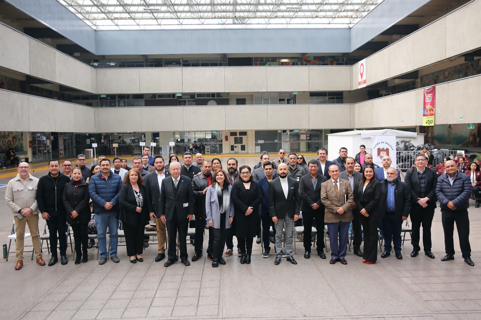
[[[466,123],[436,124],[420,127],[420,132],[426,134],[426,143],[442,147],[481,147],[481,123],[475,123],[474,129],[468,129]]]

